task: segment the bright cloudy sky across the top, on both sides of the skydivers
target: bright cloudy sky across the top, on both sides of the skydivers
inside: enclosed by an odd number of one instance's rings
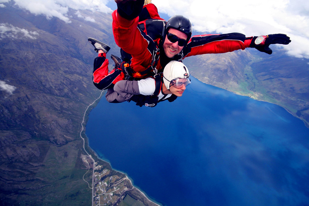
[[[6,3],[14,3],[33,14],[43,14],[48,19],[57,17],[66,23],[71,22],[69,8],[104,13],[111,13],[116,8],[114,0],[0,0],[0,7],[5,7]],[[239,32],[250,37],[283,33],[288,35],[292,42],[289,45],[276,46],[285,49],[290,56],[309,59],[307,0],[152,0],[152,3],[157,6],[159,13],[169,17],[174,14],[188,17],[193,24],[193,35],[194,32]],[[86,21],[93,21],[91,17],[78,14]]]

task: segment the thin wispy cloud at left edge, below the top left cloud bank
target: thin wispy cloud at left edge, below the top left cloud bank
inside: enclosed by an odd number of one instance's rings
[[[0,39],[21,39],[25,37],[29,39],[36,39],[37,35],[39,34],[36,31],[28,31],[27,29],[14,27],[8,23],[0,23]]]

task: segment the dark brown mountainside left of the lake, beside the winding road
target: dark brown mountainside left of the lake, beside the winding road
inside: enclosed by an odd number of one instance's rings
[[[64,23],[9,4],[0,12],[0,202],[91,205],[94,166],[79,133],[87,106],[101,91],[92,83],[96,53],[87,38],[104,39],[117,54],[111,16],[85,11],[97,21],[91,23],[70,11],[72,23]],[[85,143],[109,175],[125,177]],[[127,187],[131,201],[152,205]]]

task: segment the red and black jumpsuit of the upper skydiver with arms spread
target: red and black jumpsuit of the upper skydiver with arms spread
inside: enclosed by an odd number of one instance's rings
[[[150,67],[154,47],[160,42],[160,38],[158,37],[161,35],[160,32],[162,32],[163,25],[165,23],[165,21],[160,18],[158,10],[154,4],[147,4],[146,6],[143,6],[143,2],[144,0],[128,2],[131,4],[131,8],[126,5],[127,3],[119,4],[118,9],[112,13],[112,29],[115,42],[123,51],[132,56],[130,67],[133,69],[133,72],[135,72],[132,74],[133,77],[137,78],[143,77],[138,75],[139,72],[142,72]],[[141,7],[140,10],[138,10],[139,7]],[[130,13],[130,16],[124,13],[127,8],[129,8],[128,10],[131,9],[131,13],[128,12]],[[141,13],[143,13],[143,16],[146,16],[145,19],[148,17],[148,20],[142,19],[141,21],[140,17],[137,16],[138,14],[134,13],[138,13],[140,16]],[[132,18],[134,15],[136,17]],[[158,22],[164,23],[161,24],[161,27],[156,28],[158,31],[157,34],[149,35],[147,32],[147,27],[150,28],[149,30],[153,30],[153,23],[156,23],[155,25],[158,27]],[[144,28],[143,30],[141,29],[141,25],[142,28]],[[182,60],[186,57],[200,54],[216,54],[239,49],[244,50],[245,48],[250,47],[251,41],[252,37],[245,37],[245,35],[240,33],[194,35],[184,47],[183,51],[179,55],[176,55],[174,59],[170,60],[176,60],[175,58],[178,58],[177,60]],[[164,52],[163,50],[161,51]],[[156,66],[159,72],[162,70],[160,59],[161,58],[159,57]],[[106,77],[109,76],[107,69],[108,60],[105,60],[104,57],[102,60],[99,64],[94,64],[93,71],[94,84],[98,89],[104,89],[101,86],[103,85],[102,82],[105,82],[104,86],[109,85],[111,82],[113,85],[117,81],[124,78],[121,71],[117,71],[115,73],[113,70],[109,73],[109,75],[113,74],[114,77],[116,77],[112,81],[109,79],[109,83],[106,84],[108,80]]]

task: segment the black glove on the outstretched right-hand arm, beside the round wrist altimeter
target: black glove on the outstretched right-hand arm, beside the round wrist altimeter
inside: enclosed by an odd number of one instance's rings
[[[270,34],[267,35],[267,38],[265,39],[265,44],[262,46],[256,46],[254,41],[257,38],[257,36],[252,38],[252,41],[250,43],[250,47],[256,48],[259,51],[265,52],[267,54],[272,54],[273,51],[269,48],[270,44],[289,44],[291,42],[290,37],[288,37],[285,34]]]

